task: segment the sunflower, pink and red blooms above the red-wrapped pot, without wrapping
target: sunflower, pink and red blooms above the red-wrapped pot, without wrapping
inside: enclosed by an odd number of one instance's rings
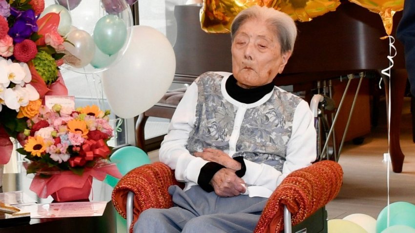
[[[105,165],[111,152],[107,141],[113,136],[109,114],[96,105],[76,110],[59,104],[52,109],[40,106],[39,113],[27,120],[24,134],[28,137],[18,149],[31,160],[27,173],[50,176],[71,171],[83,175],[86,168]]]

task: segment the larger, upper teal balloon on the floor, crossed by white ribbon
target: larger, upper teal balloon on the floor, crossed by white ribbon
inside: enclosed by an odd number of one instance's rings
[[[376,220],[376,233],[383,232],[388,224],[388,207],[379,213]],[[415,229],[415,205],[399,201],[389,204],[389,226],[402,225]]]

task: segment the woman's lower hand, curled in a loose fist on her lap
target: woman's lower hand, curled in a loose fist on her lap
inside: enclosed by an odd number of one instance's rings
[[[245,181],[239,178],[235,171],[229,168],[222,168],[210,180],[215,193],[218,196],[237,196],[246,191]]]

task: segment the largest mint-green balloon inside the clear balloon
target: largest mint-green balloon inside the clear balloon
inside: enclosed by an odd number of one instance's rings
[[[106,15],[98,20],[94,27],[94,41],[106,55],[114,55],[127,40],[127,27],[123,19],[115,15]]]

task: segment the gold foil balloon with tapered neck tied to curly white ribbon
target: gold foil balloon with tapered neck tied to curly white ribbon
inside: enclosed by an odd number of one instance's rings
[[[386,34],[391,35],[394,14],[403,9],[404,0],[349,0],[380,15]]]

